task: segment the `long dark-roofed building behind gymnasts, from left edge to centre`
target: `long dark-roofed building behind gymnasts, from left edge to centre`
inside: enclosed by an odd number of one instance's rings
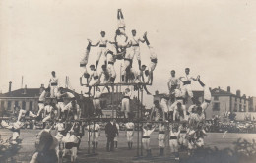
[[[29,109],[36,113],[38,111],[38,99],[40,94],[44,89],[44,85],[41,84],[39,88],[20,88],[12,91],[12,82],[9,82],[9,91],[7,93],[0,93],[0,117],[10,115],[15,112],[16,109]],[[82,117],[88,117],[93,113],[93,101],[92,98],[85,97],[83,93],[77,93],[74,90],[64,88],[65,92],[72,92],[79,105],[82,108]],[[103,93],[101,95],[101,108],[103,109],[103,117],[110,118],[116,117],[118,110],[121,107],[121,99],[123,98],[123,93]],[[52,99],[46,99],[46,103],[50,102]],[[53,102],[56,102],[54,99]],[[68,103],[69,99],[64,98],[64,102]],[[134,97],[131,99],[130,105],[133,111],[138,108],[138,99]],[[144,106],[143,106],[144,107]]]

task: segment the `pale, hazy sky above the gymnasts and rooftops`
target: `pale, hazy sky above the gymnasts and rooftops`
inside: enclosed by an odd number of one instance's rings
[[[158,54],[154,83],[149,90],[167,93],[170,71],[201,76],[212,88],[237,89],[256,96],[256,1],[253,0],[2,0],[0,2],[0,90],[24,85],[47,85],[55,71],[62,86],[68,76],[77,92],[85,92],[79,62],[87,39],[96,42],[100,31],[113,40],[117,9],[121,8],[126,33],[145,31]],[[96,63],[92,48],[89,65]],[[149,64],[149,51],[141,44],[142,63]],[[134,60],[135,66],[137,61]],[[121,62],[115,69],[119,74]],[[119,76],[119,75],[118,75]],[[119,81],[119,77],[116,79]],[[23,86],[24,86],[23,85]],[[202,87],[193,82],[194,90]],[[136,94],[136,93],[135,93]],[[144,95],[152,104],[153,96]]]

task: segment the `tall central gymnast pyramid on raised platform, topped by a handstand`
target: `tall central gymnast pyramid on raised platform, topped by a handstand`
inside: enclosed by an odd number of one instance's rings
[[[105,31],[100,32],[100,39],[96,44],[93,44],[90,39],[88,39],[89,43],[86,48],[86,53],[83,56],[80,67],[84,69],[84,73],[81,77],[81,85],[86,85],[89,87],[89,91],[87,94],[91,93],[91,89],[93,86],[102,85],[107,88],[110,92],[108,85],[113,85],[116,79],[116,71],[114,65],[117,60],[121,60],[123,63],[123,67],[121,70],[121,82],[122,83],[144,83],[142,87],[147,91],[148,94],[150,92],[146,88],[146,84],[153,83],[153,71],[157,65],[157,55],[154,52],[153,47],[150,44],[150,41],[147,37],[147,32],[144,33],[143,39],[136,35],[136,30],[133,29],[132,38],[128,38],[125,33],[126,25],[124,23],[124,17],[121,9],[117,11],[117,29],[115,31],[115,37],[113,41],[108,40],[105,37]],[[141,61],[141,53],[140,53],[140,42],[146,42],[149,49],[149,57],[151,63],[149,66],[142,65]],[[87,70],[87,64],[89,60],[89,55],[91,51],[91,47],[97,47],[97,58],[96,65],[90,65],[90,71]],[[136,70],[133,68],[133,59],[136,56],[138,60],[139,69]],[[103,65],[101,65],[100,70],[98,71],[98,63],[99,60],[103,61]],[[82,80],[86,83],[82,83]],[[142,88],[140,87],[140,88]],[[114,91],[114,87],[112,86],[112,91]]]

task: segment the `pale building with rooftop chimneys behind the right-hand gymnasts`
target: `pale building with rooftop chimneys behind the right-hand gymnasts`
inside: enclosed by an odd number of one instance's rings
[[[193,91],[194,97],[199,101],[204,100],[203,91]],[[207,119],[218,115],[224,117],[226,113],[235,113],[237,120],[256,119],[256,97],[247,97],[245,94],[241,95],[241,91],[236,93],[231,92],[230,86],[226,90],[220,87],[211,89],[212,100],[206,110]],[[160,100],[164,94],[156,91],[153,100]],[[192,104],[189,99],[187,107]]]

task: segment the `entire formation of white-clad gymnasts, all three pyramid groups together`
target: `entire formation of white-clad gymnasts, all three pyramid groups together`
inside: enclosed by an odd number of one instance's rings
[[[152,85],[153,72],[157,65],[157,55],[151,46],[147,32],[144,33],[143,39],[136,35],[136,30],[132,30],[132,38],[129,39],[125,33],[124,17],[121,9],[117,11],[118,26],[115,31],[114,41],[109,41],[105,38],[105,32],[101,31],[101,38],[96,44],[89,40],[85,56],[80,62],[80,67],[83,68],[84,73],[80,78],[81,85],[86,85],[89,90],[86,94],[93,97],[93,104],[96,114],[102,115],[100,106],[100,96],[104,88],[110,92],[114,91],[114,83],[116,79],[116,72],[114,64],[116,60],[123,62],[123,69],[121,71],[121,81],[124,85],[134,85],[135,89],[145,89],[148,94],[146,85]],[[149,66],[143,65],[140,54],[140,44],[146,42],[149,49],[149,57],[151,63]],[[90,71],[87,70],[87,64],[91,47],[98,47],[96,58],[96,65],[90,65]],[[113,48],[109,48],[112,46]],[[133,58],[136,56],[139,69],[135,70],[133,65]],[[103,60],[101,70],[98,73],[97,68],[100,58]],[[86,83],[82,81],[85,80]],[[198,81],[204,89],[204,101],[199,102],[194,96],[191,89],[191,81]],[[24,118],[30,116],[34,121],[41,121],[43,123],[43,130],[37,135],[37,149],[42,145],[40,140],[42,136],[51,137],[51,144],[48,149],[53,150],[58,159],[62,158],[71,152],[71,161],[75,162],[77,159],[77,150],[79,149],[81,139],[85,136],[85,130],[88,131],[88,145],[93,145],[93,148],[98,146],[98,138],[100,136],[100,126],[98,123],[91,121],[85,123],[81,120],[81,109],[78,105],[75,95],[67,92],[64,88],[59,87],[58,78],[55,72],[52,72],[52,78],[49,82],[49,87],[45,88],[41,93],[38,101],[38,112],[33,114],[32,111],[21,109],[17,121],[13,124],[8,124],[5,121],[1,125],[13,131],[12,141],[20,136],[20,129],[23,127]],[[96,86],[94,93],[91,93],[92,87]],[[99,86],[103,89],[100,90]],[[211,102],[211,92],[209,87],[201,81],[200,76],[193,78],[190,76],[190,69],[185,69],[185,76],[176,78],[175,71],[171,71],[171,78],[168,81],[169,95],[165,95],[160,101],[154,101],[147,123],[142,127],[142,143],[144,149],[147,151],[147,156],[151,156],[150,136],[158,127],[158,140],[160,148],[160,156],[164,154],[164,148],[169,144],[171,153],[176,159],[179,158],[178,152],[180,148],[187,148],[188,153],[191,154],[194,149],[202,148],[204,146],[204,131],[205,110]],[[54,102],[46,102],[46,97],[50,94],[51,99],[56,99]],[[124,96],[121,100],[121,111],[124,112],[123,121],[125,123],[125,136],[127,138],[128,148],[132,149],[133,136],[135,132],[135,123],[130,114],[130,97],[132,90],[128,87],[124,90]],[[193,104],[186,107],[187,98],[191,98]],[[64,98],[69,99],[67,104],[64,103]],[[145,115],[146,117],[146,115]],[[153,125],[155,124],[155,125]],[[49,135],[52,129],[56,130],[56,135]],[[110,120],[105,127],[105,135],[107,137],[107,150],[112,151],[117,147],[117,136],[119,135],[119,125],[115,120]],[[32,160],[38,159],[45,154],[44,149],[38,150],[34,153]],[[41,157],[40,157],[41,158]],[[47,162],[47,161],[46,161]]]

